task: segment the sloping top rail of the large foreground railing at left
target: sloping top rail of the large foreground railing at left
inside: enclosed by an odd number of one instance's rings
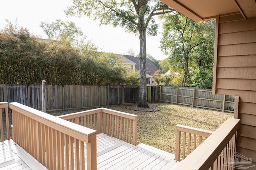
[[[14,111],[22,113],[23,115],[31,117],[32,119],[44,125],[47,125],[48,127],[52,127],[62,133],[70,135],[86,143],[89,143],[88,137],[90,135],[94,135],[97,133],[97,131],[93,129],[82,127],[75,123],[71,123],[64,119],[60,119],[53,115],[49,115],[47,113],[19,104],[17,102],[10,103],[10,108]]]

